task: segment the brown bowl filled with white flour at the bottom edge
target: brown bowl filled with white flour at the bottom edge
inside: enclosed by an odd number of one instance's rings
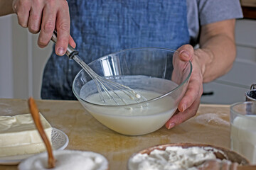
[[[247,159],[229,149],[203,144],[166,144],[149,147],[129,158],[129,170],[194,170],[208,160],[249,164]]]

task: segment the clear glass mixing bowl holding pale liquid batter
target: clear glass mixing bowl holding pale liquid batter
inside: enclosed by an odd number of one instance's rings
[[[96,94],[92,78],[82,69],[73,81],[73,93],[100,123],[123,135],[144,135],[161,128],[176,111],[191,77],[191,62],[164,48],[135,48],[101,57],[88,64],[101,77],[158,96],[140,103],[106,106],[87,101]]]

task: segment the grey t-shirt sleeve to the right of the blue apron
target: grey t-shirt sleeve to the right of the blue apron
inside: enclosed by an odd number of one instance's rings
[[[200,27],[233,18],[242,18],[239,0],[186,0],[191,45],[198,43]]]

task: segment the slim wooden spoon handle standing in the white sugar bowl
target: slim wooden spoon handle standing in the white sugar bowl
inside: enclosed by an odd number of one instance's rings
[[[33,121],[36,125],[36,128],[37,128],[39,134],[41,135],[41,138],[42,138],[44,144],[46,145],[46,149],[48,152],[48,169],[52,169],[55,166],[55,159],[53,157],[53,149],[50,145],[50,141],[48,140],[48,137],[46,136],[46,132],[43,130],[43,125],[41,123],[39,111],[36,106],[36,102],[33,100],[32,97],[28,99],[28,106],[31,111],[31,115],[32,115]]]

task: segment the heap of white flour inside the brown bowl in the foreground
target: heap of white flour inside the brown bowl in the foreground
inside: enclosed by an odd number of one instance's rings
[[[136,154],[129,160],[129,170],[196,169],[208,159],[216,159],[216,149],[210,147],[166,147],[148,154]]]

